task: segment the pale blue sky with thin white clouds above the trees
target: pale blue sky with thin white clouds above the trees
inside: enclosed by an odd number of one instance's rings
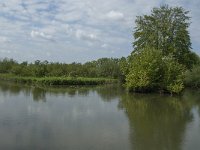
[[[0,58],[84,63],[126,57],[136,16],[163,4],[190,11],[192,48],[200,54],[199,0],[0,0]]]

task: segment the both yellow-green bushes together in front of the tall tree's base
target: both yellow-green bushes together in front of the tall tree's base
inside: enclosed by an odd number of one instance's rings
[[[171,56],[162,57],[162,52],[145,48],[130,56],[130,69],[126,75],[129,90],[166,91],[180,93],[183,86],[185,68]]]

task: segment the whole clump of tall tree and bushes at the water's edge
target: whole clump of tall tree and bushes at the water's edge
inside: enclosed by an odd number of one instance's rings
[[[129,90],[180,93],[184,75],[199,62],[192,51],[188,11],[167,5],[136,19],[134,51],[124,60],[122,74]]]

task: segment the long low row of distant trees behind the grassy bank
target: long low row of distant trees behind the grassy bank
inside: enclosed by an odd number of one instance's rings
[[[0,73],[22,77],[91,77],[121,78],[121,59],[101,58],[81,63],[59,63],[36,60],[34,63],[19,63],[13,59],[0,60]]]

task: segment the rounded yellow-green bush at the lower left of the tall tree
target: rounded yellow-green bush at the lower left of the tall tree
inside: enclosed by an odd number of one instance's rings
[[[155,49],[145,48],[129,58],[130,68],[126,76],[126,85],[130,90],[151,91],[161,78],[162,55]]]

